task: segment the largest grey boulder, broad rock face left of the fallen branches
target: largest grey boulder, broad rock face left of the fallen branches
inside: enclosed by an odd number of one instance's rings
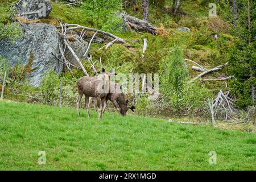
[[[32,85],[39,86],[43,74],[49,69],[57,73],[63,70],[63,64],[54,56],[59,55],[59,35],[56,27],[49,24],[23,24],[22,28],[24,34],[15,43],[0,40],[0,55],[9,60],[12,67],[16,64],[27,65],[32,55],[32,72],[27,73],[27,79]]]

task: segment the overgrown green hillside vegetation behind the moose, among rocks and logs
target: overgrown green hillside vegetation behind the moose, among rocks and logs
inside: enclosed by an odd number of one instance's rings
[[[11,23],[19,24],[11,17],[10,11],[14,0],[0,1],[0,31],[5,37],[18,39],[19,30]],[[216,1],[189,0],[181,1],[178,15],[172,14],[171,0],[149,1],[148,21],[158,27],[156,35],[134,30],[125,31],[125,23],[119,13],[125,13],[142,19],[143,3],[141,0],[131,1],[79,1],[79,6],[67,5],[66,1],[51,1],[53,10],[48,18],[36,21],[21,19],[23,23],[49,23],[59,26],[62,23],[76,23],[81,26],[93,27],[108,31],[126,40],[126,44],[113,44],[108,49],[100,49],[109,40],[102,43],[93,42],[90,47],[94,67],[102,67],[108,71],[112,68],[117,73],[159,73],[160,96],[158,100],[147,99],[145,94],[128,94],[137,109],[135,114],[161,118],[201,117],[198,121],[210,122],[209,100],[214,100],[220,89],[235,100],[234,113],[228,118],[226,110],[216,114],[217,122],[246,122],[255,131],[255,102],[252,88],[255,80],[255,2],[247,11],[245,1],[239,1],[239,11],[236,24],[232,23],[232,7],[228,1],[217,3],[217,16],[209,17],[209,3]],[[127,3],[127,4],[125,4]],[[231,13],[230,13],[231,12]],[[251,30],[244,26],[247,14],[251,13]],[[9,28],[3,28],[9,24]],[[2,26],[1,26],[2,25]],[[176,28],[188,27],[189,32],[178,31]],[[79,34],[73,31],[73,34]],[[88,32],[89,40],[93,32]],[[214,40],[217,35],[217,40]],[[1,35],[0,35],[1,39]],[[147,49],[142,59],[143,39],[147,39]],[[251,43],[247,43],[248,39]],[[214,79],[232,77],[230,80],[197,79],[200,74],[192,69],[192,64],[184,59],[193,60],[206,69],[211,69],[229,62],[217,72],[209,73],[204,78]],[[102,65],[100,64],[102,60]],[[72,74],[64,69],[61,75],[52,71],[45,73],[42,85],[34,88],[26,81],[27,68],[24,65],[8,66],[8,60],[0,57],[0,75],[8,71],[8,84],[5,98],[15,101],[33,102],[47,105],[59,104],[60,82],[63,84],[63,105],[75,107],[77,97],[76,81],[84,75],[81,70],[72,69]],[[87,59],[82,60],[89,75],[95,75]],[[0,85],[1,86],[1,85]],[[109,108],[112,108],[110,106]],[[247,114],[249,112],[249,114]],[[228,113],[229,114],[229,113]],[[205,119],[208,118],[208,119]],[[247,130],[247,127],[245,127]],[[247,130],[248,131],[248,130]]]

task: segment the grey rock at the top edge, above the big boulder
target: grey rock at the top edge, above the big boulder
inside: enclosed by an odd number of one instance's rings
[[[47,0],[21,0],[16,3],[14,10],[26,19],[47,18],[52,11],[52,3]],[[33,13],[34,12],[34,13]],[[27,13],[32,13],[24,15]]]

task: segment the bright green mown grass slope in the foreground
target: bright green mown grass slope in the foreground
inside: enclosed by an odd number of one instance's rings
[[[0,169],[256,169],[253,133],[0,102]],[[40,166],[38,152],[46,151]],[[217,152],[217,165],[208,163]]]

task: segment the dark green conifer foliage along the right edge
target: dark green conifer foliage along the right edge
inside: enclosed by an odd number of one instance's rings
[[[238,13],[234,15],[233,6],[226,1],[225,18],[233,27],[231,34],[236,43],[229,50],[229,73],[235,79],[230,81],[231,90],[238,97],[237,105],[245,108],[255,105],[253,90],[256,85],[256,3],[255,1],[237,1]],[[234,18],[236,16],[236,18]]]

